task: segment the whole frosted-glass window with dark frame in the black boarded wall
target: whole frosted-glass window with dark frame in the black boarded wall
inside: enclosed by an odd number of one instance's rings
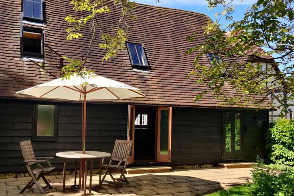
[[[35,104],[33,140],[57,140],[58,112],[57,104]]]

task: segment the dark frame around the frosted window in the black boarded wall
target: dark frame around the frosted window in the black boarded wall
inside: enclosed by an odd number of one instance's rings
[[[39,105],[54,105],[54,129],[53,136],[38,136],[37,124],[38,124],[38,106]],[[59,104],[57,103],[34,103],[33,113],[33,127],[32,127],[32,140],[33,141],[57,141],[58,140],[58,122],[59,122]]]

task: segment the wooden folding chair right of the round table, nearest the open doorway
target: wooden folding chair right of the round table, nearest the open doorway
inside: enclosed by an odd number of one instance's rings
[[[103,182],[108,182],[108,183],[116,184],[116,187],[119,186],[121,181],[124,181],[127,184],[129,184],[124,173],[126,171],[126,166],[128,165],[128,160],[130,158],[131,149],[132,149],[132,141],[115,140],[115,144],[114,144],[114,148],[113,148],[113,152],[112,152],[109,164],[102,165],[103,167],[105,167],[106,172],[101,180],[101,184]],[[114,165],[114,164],[112,164],[112,161],[118,161],[118,164]],[[122,162],[125,162],[123,166],[121,165]],[[114,178],[112,176],[111,172],[109,172],[109,168],[120,169],[120,171],[121,171],[120,177]],[[108,173],[109,173],[111,179],[113,180],[113,182],[105,180],[105,177]]]

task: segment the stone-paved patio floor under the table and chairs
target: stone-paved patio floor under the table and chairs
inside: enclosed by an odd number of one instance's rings
[[[199,195],[215,190],[228,189],[234,185],[244,184],[251,177],[252,168],[223,169],[186,169],[172,170],[167,173],[133,174],[126,175],[129,185],[113,188],[113,185],[103,184],[99,190],[94,190],[95,195]],[[47,176],[53,189],[47,190],[47,195],[81,195],[79,192],[62,192],[62,175]],[[93,176],[92,184],[98,183],[99,176]],[[0,179],[0,195],[41,195],[36,185],[33,189],[26,190],[25,194],[19,191],[31,180],[29,177]],[[40,179],[39,182],[42,182]],[[74,184],[74,176],[67,175],[66,185]],[[88,184],[88,183],[87,183]],[[44,185],[44,182],[43,182]]]

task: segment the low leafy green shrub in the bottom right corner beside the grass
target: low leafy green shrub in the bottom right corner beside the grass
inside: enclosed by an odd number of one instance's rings
[[[293,196],[294,169],[287,165],[264,165],[259,161],[252,170],[250,194],[256,196]]]

